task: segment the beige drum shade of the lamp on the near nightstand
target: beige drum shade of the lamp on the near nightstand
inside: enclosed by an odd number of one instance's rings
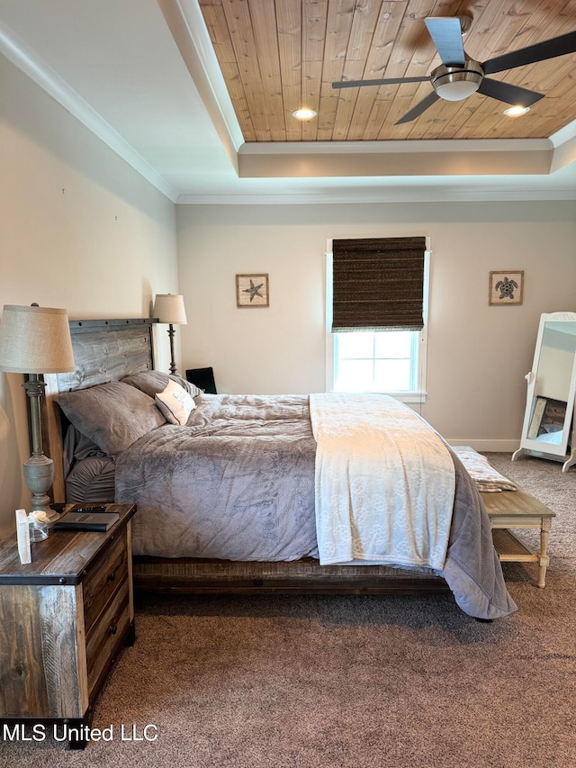
[[[66,310],[4,305],[0,321],[0,370],[62,374],[75,369]]]

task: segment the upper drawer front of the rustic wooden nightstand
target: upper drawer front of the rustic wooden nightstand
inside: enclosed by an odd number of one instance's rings
[[[128,547],[126,531],[108,547],[94,565],[83,583],[84,621],[86,636],[94,626],[112,595],[128,577]]]

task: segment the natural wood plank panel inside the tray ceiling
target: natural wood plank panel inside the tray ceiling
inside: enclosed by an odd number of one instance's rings
[[[199,0],[244,139],[359,141],[545,138],[576,119],[576,54],[491,77],[544,93],[522,117],[473,94],[394,123],[429,82],[337,90],[333,81],[428,76],[441,62],[424,19],[469,14],[479,61],[576,30],[576,0]],[[318,116],[293,118],[306,106]]]

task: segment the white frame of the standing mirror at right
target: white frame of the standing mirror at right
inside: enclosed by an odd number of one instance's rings
[[[572,361],[572,378],[568,392],[568,401],[566,402],[566,413],[564,416],[563,439],[560,445],[543,443],[534,438],[528,438],[528,433],[534,419],[536,402],[536,379],[538,365],[542,353],[542,342],[545,334],[547,322],[573,322],[576,323],[576,312],[549,312],[540,316],[538,326],[538,335],[536,338],[536,348],[534,353],[534,362],[532,370],[526,375],[528,390],[526,411],[524,413],[524,424],[522,426],[522,437],[520,438],[520,447],[512,454],[512,461],[522,454],[540,456],[542,458],[551,458],[556,461],[563,461],[563,472],[566,472],[573,464],[576,464],[576,430],[572,423],[574,414],[574,398],[576,396],[576,349]],[[576,338],[576,337],[575,337]],[[572,429],[571,429],[572,428]],[[570,438],[571,452],[568,453],[568,443]]]

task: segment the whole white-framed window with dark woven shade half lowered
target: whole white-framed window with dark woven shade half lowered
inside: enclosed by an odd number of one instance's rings
[[[368,264],[371,258],[366,259],[363,253],[363,245],[367,243],[372,250],[372,256],[376,261],[387,258],[385,250],[381,253],[381,243],[384,246],[392,243],[392,248],[398,248],[399,241],[407,241],[410,248],[414,245],[415,239],[379,239],[379,240],[350,240],[335,241],[346,243],[347,247],[352,243],[355,248],[359,244],[361,256],[359,257],[360,269],[354,265],[346,267],[344,272],[344,283],[338,286],[336,292],[334,289],[334,270],[332,256],[332,241],[329,241],[328,259],[327,259],[327,390],[334,392],[380,392],[392,394],[401,400],[407,402],[422,401],[426,393],[426,316],[427,316],[427,295],[428,295],[428,262],[429,253],[424,248],[426,240],[418,239],[418,248],[421,250],[422,258],[416,258],[415,273],[420,272],[420,281],[414,283],[412,294],[415,294],[419,301],[418,313],[414,307],[409,307],[408,317],[402,315],[400,305],[397,305],[397,299],[401,291],[395,289],[394,280],[398,275],[394,274],[397,269],[399,274],[404,275],[410,272],[410,267],[404,268],[405,254],[402,254],[401,263],[392,264],[392,273],[390,270],[380,276],[374,276],[374,265]],[[378,250],[374,249],[375,245]],[[404,242],[401,242],[404,245]],[[398,255],[397,255],[398,256]],[[356,257],[355,257],[356,258]],[[392,256],[392,262],[396,259]],[[418,267],[420,265],[420,267]],[[362,281],[362,270],[367,266],[367,280],[371,285],[367,293],[363,288],[358,292],[357,285]],[[350,271],[351,270],[351,271]],[[337,280],[342,280],[343,273],[340,270]],[[388,285],[376,285],[379,281],[386,282]],[[392,283],[392,285],[391,285]],[[349,286],[351,290],[348,291]],[[374,289],[375,285],[375,290]],[[345,290],[342,291],[344,286]],[[338,289],[339,287],[339,289]],[[403,287],[406,287],[405,285]],[[368,306],[354,307],[356,293],[367,293]],[[386,298],[390,291],[394,293],[392,300]],[[337,301],[335,302],[335,294]],[[347,324],[348,320],[353,326],[349,330],[338,330],[336,322],[333,323],[335,303],[340,301],[346,303],[344,308],[336,308],[336,316],[339,323]],[[344,297],[344,298],[343,298]],[[378,315],[378,304],[384,297],[383,312]],[[410,296],[409,296],[410,300]],[[384,306],[385,303],[385,306]],[[400,308],[399,308],[400,307]],[[392,312],[391,312],[392,310]],[[383,314],[386,317],[383,318]],[[419,314],[419,317],[417,317]],[[348,319],[343,318],[348,316]],[[365,324],[372,326],[365,329]],[[378,327],[381,323],[386,323],[384,327]],[[416,328],[410,328],[416,325]],[[408,327],[407,327],[408,326]],[[355,329],[358,330],[355,330]],[[398,329],[398,330],[397,330]]]

